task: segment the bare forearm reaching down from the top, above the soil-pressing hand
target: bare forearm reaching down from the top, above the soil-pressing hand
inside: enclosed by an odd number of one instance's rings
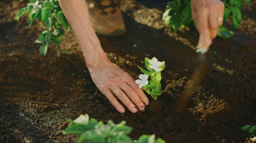
[[[87,66],[107,59],[92,29],[85,0],[59,0],[59,3],[82,49]]]

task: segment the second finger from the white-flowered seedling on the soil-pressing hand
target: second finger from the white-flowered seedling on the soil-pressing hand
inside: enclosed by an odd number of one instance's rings
[[[121,84],[120,88],[128,95],[131,101],[138,107],[140,111],[145,110],[145,105],[140,100],[137,92],[135,92],[127,83]]]

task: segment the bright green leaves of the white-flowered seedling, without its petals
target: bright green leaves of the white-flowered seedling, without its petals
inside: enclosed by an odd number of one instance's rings
[[[161,62],[161,66],[158,66],[158,71],[150,68],[150,62],[153,61],[155,57],[150,60],[149,58],[145,58],[144,63],[147,68],[147,70],[144,70],[143,68],[139,67],[138,68],[143,72],[144,74],[147,74],[150,76],[150,80],[147,85],[144,85],[142,89],[146,91],[148,94],[152,96],[153,99],[157,99],[157,96],[161,95],[161,71],[164,70],[165,68],[165,62]],[[156,59],[156,58],[155,58]],[[156,59],[157,60],[157,59]],[[159,61],[158,61],[159,62]]]

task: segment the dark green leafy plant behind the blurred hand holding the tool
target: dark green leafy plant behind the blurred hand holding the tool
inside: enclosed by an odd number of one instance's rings
[[[232,18],[233,29],[238,29],[241,20],[241,7],[242,0],[222,0],[225,4],[223,23],[226,22],[230,17]],[[247,4],[251,0],[245,0]],[[188,26],[193,22],[191,14],[191,3],[190,0],[173,0],[167,3],[167,9],[164,12],[162,19],[166,25],[172,26],[174,30],[179,30],[183,26]],[[193,23],[195,26],[195,24]],[[229,31],[225,26],[221,26],[218,31],[220,38],[230,38],[234,35],[234,32]]]

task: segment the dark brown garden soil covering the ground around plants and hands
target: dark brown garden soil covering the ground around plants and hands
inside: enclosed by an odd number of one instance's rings
[[[167,0],[122,1],[126,34],[99,36],[108,58],[134,79],[144,57],[155,56],[167,65],[160,104],[151,102],[137,114],[119,114],[99,92],[73,34],[65,35],[61,47],[71,54],[58,58],[56,45],[46,56],[39,54],[34,41],[43,31],[40,23],[28,27],[25,17],[15,21],[26,2],[0,1],[0,142],[75,142],[77,135],[61,133],[68,125],[65,119],[85,113],[104,122],[126,120],[133,127],[132,139],[156,134],[167,143],[249,142],[240,127],[256,124],[256,1],[244,4],[233,38],[214,39],[208,75],[192,92],[188,108],[175,114],[178,95],[198,66],[193,50],[198,34],[164,26]]]

